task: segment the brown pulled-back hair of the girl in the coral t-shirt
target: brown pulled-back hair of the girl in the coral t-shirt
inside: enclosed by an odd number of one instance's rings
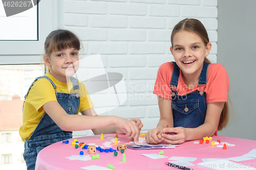
[[[172,34],[170,36],[170,42],[172,43],[172,46],[173,46],[174,35],[178,31],[194,32],[202,38],[205,45],[207,45],[209,42],[208,34],[207,34],[207,31],[206,31],[204,25],[202,24],[202,22],[200,22],[197,19],[186,18],[186,19],[181,20],[179,23],[177,23],[177,25],[174,27]],[[206,57],[204,58],[204,62],[211,63]],[[228,101],[230,102],[229,96],[228,96]],[[220,121],[219,121],[219,126],[218,126],[219,131],[222,130],[224,127],[226,127],[228,124],[228,119],[229,119],[228,101],[224,104],[224,107],[223,107],[221,115],[220,115]]]

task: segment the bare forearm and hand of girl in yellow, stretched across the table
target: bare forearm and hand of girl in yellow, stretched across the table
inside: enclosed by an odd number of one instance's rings
[[[70,115],[56,101],[42,106],[55,124],[63,131],[81,131],[114,125],[125,132],[130,140],[139,141],[139,128],[135,121],[118,116]],[[143,125],[142,125],[143,126]]]

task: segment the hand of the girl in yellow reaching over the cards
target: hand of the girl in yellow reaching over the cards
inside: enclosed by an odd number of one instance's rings
[[[140,119],[133,118],[131,120],[127,120],[125,118],[116,116],[114,125],[120,128],[120,130],[122,131],[121,133],[124,133],[129,138],[130,141],[134,140],[135,142],[139,142],[139,127],[143,126]]]

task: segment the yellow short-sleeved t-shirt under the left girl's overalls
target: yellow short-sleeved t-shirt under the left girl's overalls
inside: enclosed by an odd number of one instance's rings
[[[68,83],[63,83],[56,80],[51,74],[46,74],[45,76],[53,81],[56,85],[57,92],[74,92],[71,80]],[[84,84],[81,81],[78,81],[78,84],[80,88],[80,103],[77,114],[94,107]],[[75,92],[77,92],[77,90]],[[19,135],[24,142],[30,138],[41,117],[45,114],[42,106],[51,101],[57,102],[55,90],[51,82],[47,79],[38,79],[31,87],[24,102],[23,125],[19,128]]]

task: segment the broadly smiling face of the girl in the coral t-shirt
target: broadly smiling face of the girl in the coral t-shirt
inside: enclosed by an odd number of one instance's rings
[[[211,43],[205,45],[202,38],[191,31],[178,31],[173,37],[170,47],[177,65],[182,70],[182,76],[187,79],[199,79],[204,58],[208,56]]]

